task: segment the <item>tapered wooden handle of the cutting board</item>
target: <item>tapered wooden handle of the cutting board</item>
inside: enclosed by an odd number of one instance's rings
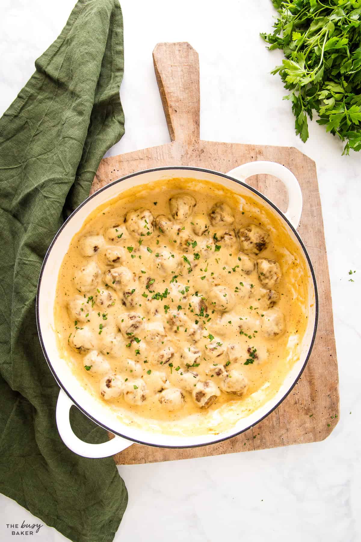
[[[181,143],[198,140],[198,53],[187,42],[157,43],[153,62],[170,139]]]

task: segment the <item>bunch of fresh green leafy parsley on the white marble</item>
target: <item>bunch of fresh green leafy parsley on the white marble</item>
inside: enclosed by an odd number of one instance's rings
[[[296,133],[309,137],[307,115],[346,141],[343,154],[361,149],[361,0],[272,0],[279,18],[268,49],[283,49],[279,73],[290,94]]]

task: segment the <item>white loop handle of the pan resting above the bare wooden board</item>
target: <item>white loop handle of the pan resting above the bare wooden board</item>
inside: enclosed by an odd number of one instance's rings
[[[274,175],[274,177],[280,179],[286,186],[288,193],[288,208],[283,214],[296,229],[302,212],[302,192],[298,180],[287,167],[278,164],[277,162],[256,160],[255,162],[248,162],[247,164],[235,167],[233,170],[228,171],[227,175],[235,177],[242,182],[246,182],[247,177],[260,175],[261,173]]]

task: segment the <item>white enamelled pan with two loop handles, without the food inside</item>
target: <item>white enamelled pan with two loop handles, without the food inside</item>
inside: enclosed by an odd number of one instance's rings
[[[270,202],[257,190],[248,186],[245,182],[247,177],[267,173],[278,177],[283,181],[288,192],[288,209],[283,214],[275,205]],[[251,195],[261,207],[266,207],[274,215],[277,215],[283,222],[288,234],[299,246],[304,254],[309,280],[309,318],[301,346],[301,355],[288,373],[278,393],[266,404],[251,415],[244,417],[234,424],[231,430],[218,435],[206,434],[203,436],[175,436],[159,433],[152,433],[149,430],[132,428],[121,422],[119,417],[105,405],[101,399],[91,396],[75,378],[65,360],[61,359],[56,345],[55,324],[54,324],[54,300],[58,272],[63,257],[68,250],[73,236],[81,229],[84,220],[91,211],[115,198],[120,192],[136,185],[151,183],[159,179],[170,179],[178,177],[192,177],[194,179],[205,179],[214,183],[226,186],[240,195]],[[147,444],[148,446],[166,448],[188,448],[205,446],[220,442],[226,438],[246,431],[253,425],[260,422],[285,399],[293,386],[297,383],[301,373],[305,369],[307,360],[310,357],[314,338],[317,329],[318,319],[318,296],[316,279],[310,257],[297,234],[302,210],[302,195],[299,184],[293,173],[286,167],[275,162],[251,162],[236,167],[227,175],[216,171],[204,170],[196,167],[160,167],[156,169],[140,171],[115,180],[113,183],[104,186],[84,201],[63,224],[52,241],[47,255],[45,256],[38,283],[36,298],[36,318],[38,333],[44,352],[45,359],[55,379],[61,387],[57,409],[57,427],[64,443],[76,454],[85,457],[106,457],[113,455],[133,442]],[[82,410],[91,420],[101,425],[115,435],[115,438],[102,444],[88,444],[82,442],[75,436],[70,427],[69,410],[72,405]]]

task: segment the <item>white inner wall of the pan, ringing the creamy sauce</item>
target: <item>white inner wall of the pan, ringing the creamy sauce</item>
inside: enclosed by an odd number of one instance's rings
[[[62,388],[65,392],[67,392],[70,398],[73,399],[73,401],[80,406],[84,412],[91,416],[100,425],[103,425],[103,427],[106,427],[117,435],[124,436],[130,440],[146,444],[153,444],[154,446],[191,447],[201,444],[211,444],[212,442],[238,434],[250,426],[257,424],[261,418],[271,412],[274,407],[287,395],[287,392],[290,391],[303,368],[307,354],[310,350],[310,345],[312,343],[316,320],[316,293],[314,291],[311,268],[305,257],[309,279],[309,319],[301,347],[299,361],[294,364],[292,370],[290,373],[288,373],[277,395],[275,395],[271,401],[268,401],[261,408],[254,411],[251,415],[238,420],[232,429],[218,435],[207,434],[202,436],[186,437],[153,434],[149,431],[134,429],[122,424],[115,412],[112,412],[109,407],[101,401],[101,399],[96,399],[95,397],[91,396],[90,393],[84,390],[80,382],[78,382],[76,377],[71,372],[67,362],[61,359],[58,354],[56,335],[54,332],[55,322],[53,310],[57,276],[71,239],[75,233],[81,229],[84,220],[86,220],[91,211],[96,209],[99,205],[113,199],[119,195],[120,192],[132,188],[132,186],[151,183],[162,178],[166,180],[175,177],[192,177],[199,180],[206,179],[208,181],[224,185],[240,195],[251,195],[261,206],[267,207],[274,214],[278,215],[278,212],[275,211],[274,208],[257,193],[254,193],[253,191],[250,192],[250,189],[248,189],[246,186],[239,184],[234,180],[227,179],[215,172],[205,172],[202,170],[187,169],[182,167],[179,169],[141,172],[133,177],[123,179],[119,182],[114,182],[108,185],[106,189],[97,192],[95,196],[88,199],[88,201],[75,212],[75,214],[65,224],[63,230],[58,235],[56,241],[51,247],[47,262],[43,268],[40,289],[38,292],[38,326],[43,341],[44,351],[47,354],[52,371],[55,373],[58,382],[61,384]],[[286,223],[286,221],[284,221],[284,225],[287,228],[290,237],[299,245],[298,238],[293,233],[292,228]],[[68,409],[64,410],[64,416],[68,415]],[[119,441],[121,442],[121,439],[119,439]],[[119,449],[123,448],[124,445],[120,443]]]

